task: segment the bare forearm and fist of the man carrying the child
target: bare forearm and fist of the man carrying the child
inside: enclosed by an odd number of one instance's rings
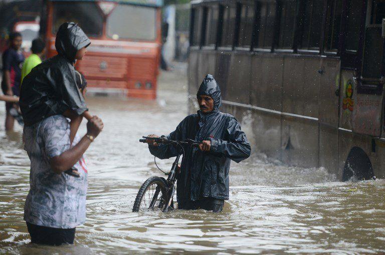
[[[99,135],[102,129],[103,122],[97,116],[92,117],[87,123],[87,135],[93,136],[94,138]],[[61,174],[70,169],[82,157],[90,144],[91,140],[86,135],[83,136],[74,147],[50,160],[52,170],[57,174]]]

